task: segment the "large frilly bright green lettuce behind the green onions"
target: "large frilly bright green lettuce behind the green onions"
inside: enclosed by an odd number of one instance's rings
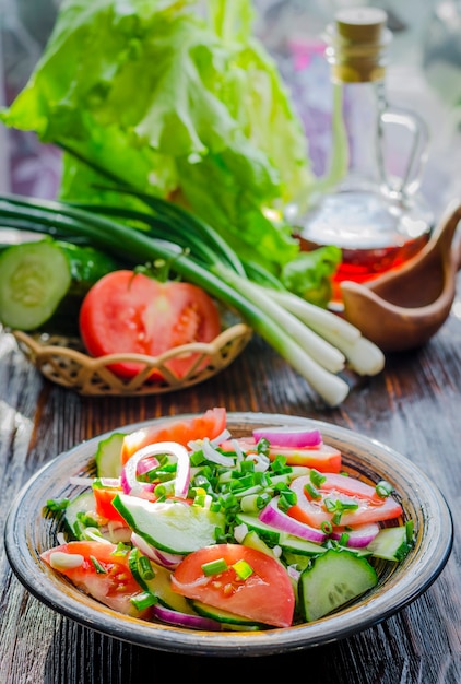
[[[0,118],[68,151],[62,199],[132,201],[101,189],[105,169],[188,205],[244,260],[281,275],[299,256],[283,209],[314,184],[306,137],[251,35],[250,0],[204,4],[64,0]]]

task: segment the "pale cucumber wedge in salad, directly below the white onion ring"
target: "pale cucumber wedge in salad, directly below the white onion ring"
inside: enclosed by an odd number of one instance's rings
[[[165,502],[152,503],[119,494],[113,505],[128,526],[146,542],[169,553],[185,555],[216,543],[216,528],[224,529],[223,512],[201,506]]]

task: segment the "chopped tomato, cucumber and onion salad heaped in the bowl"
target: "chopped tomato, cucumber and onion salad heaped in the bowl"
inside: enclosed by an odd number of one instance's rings
[[[99,441],[96,476],[49,500],[67,539],[42,554],[105,605],[204,630],[319,620],[399,563],[413,527],[385,481],[343,472],[318,429],[234,437],[226,410]],[[87,486],[85,486],[87,485]]]

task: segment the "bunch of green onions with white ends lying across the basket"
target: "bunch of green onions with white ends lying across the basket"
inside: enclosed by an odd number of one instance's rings
[[[339,405],[348,394],[350,386],[339,375],[346,362],[363,375],[382,369],[380,350],[353,326],[281,284],[275,288],[269,275],[265,283],[252,281],[229,246],[187,210],[158,198],[140,199],[150,212],[3,196],[0,219],[5,227],[84,240],[125,260],[172,263],[185,281],[238,311],[328,405]]]

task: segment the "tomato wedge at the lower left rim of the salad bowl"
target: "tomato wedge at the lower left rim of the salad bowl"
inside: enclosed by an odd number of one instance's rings
[[[150,609],[139,611],[130,601],[142,589],[130,571],[128,555],[116,551],[115,544],[80,541],[49,549],[40,557],[101,603],[125,615],[147,617]]]

